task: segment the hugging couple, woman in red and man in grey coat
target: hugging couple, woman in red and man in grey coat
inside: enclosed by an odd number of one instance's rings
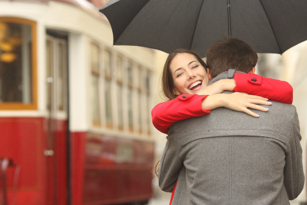
[[[170,204],[290,204],[304,185],[292,87],[254,74],[256,51],[236,38],[206,57],[178,49],[166,60],[170,100],[151,111],[168,134],[159,186]]]

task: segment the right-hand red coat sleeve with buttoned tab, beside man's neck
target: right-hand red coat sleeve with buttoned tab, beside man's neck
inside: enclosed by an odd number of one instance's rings
[[[254,73],[235,73],[235,92],[246,92],[248,94],[266,97],[268,99],[292,104],[293,88],[286,82],[272,78],[262,77]]]

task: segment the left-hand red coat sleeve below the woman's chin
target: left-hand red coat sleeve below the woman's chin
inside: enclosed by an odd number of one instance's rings
[[[175,99],[161,102],[151,110],[152,124],[160,132],[168,134],[169,127],[174,123],[210,113],[210,110],[202,109],[202,101],[207,96],[181,94]]]

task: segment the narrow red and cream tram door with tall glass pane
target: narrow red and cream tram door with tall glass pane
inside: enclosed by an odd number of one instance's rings
[[[46,38],[46,204],[67,204],[67,36]]]

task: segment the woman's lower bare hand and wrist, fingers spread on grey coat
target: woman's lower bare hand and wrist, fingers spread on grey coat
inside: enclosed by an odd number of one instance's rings
[[[230,110],[246,113],[256,118],[259,117],[259,115],[248,110],[248,108],[263,112],[268,111],[267,108],[258,106],[257,104],[270,106],[271,102],[267,101],[264,97],[250,95],[243,92],[209,95],[202,102],[203,110],[225,107]]]

